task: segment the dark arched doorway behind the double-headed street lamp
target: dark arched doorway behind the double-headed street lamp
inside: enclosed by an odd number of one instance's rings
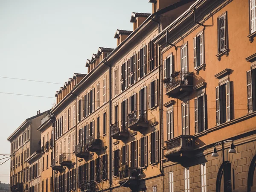
[[[216,180],[216,192],[224,192],[224,183],[225,183],[225,192],[232,192],[232,181],[231,181],[231,163],[229,161],[224,162],[225,169],[225,178],[223,175],[223,164],[221,164],[218,171],[217,180]]]

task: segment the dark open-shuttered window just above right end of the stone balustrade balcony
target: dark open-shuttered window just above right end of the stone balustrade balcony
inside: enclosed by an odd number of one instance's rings
[[[195,133],[201,133],[207,129],[206,94],[195,98]]]

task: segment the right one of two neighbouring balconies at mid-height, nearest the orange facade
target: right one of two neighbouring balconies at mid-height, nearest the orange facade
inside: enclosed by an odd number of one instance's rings
[[[147,111],[140,110],[139,116],[136,113],[131,113],[128,117],[128,128],[133,131],[144,131],[148,128]]]

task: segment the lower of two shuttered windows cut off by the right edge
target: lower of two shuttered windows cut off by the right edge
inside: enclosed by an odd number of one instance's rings
[[[247,71],[248,113],[256,111],[256,69]]]

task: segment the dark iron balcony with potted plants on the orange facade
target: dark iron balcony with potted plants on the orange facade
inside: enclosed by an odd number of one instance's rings
[[[164,79],[166,95],[180,99],[193,90],[193,72],[174,72],[172,77]]]

